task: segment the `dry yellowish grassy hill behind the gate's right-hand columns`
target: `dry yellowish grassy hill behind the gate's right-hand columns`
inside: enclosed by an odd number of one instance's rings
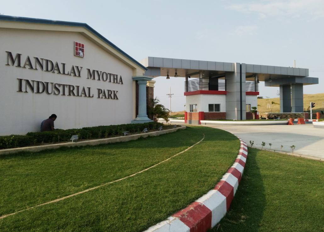
[[[272,104],[273,102],[273,104]],[[323,94],[304,94],[304,109],[307,110],[307,107],[310,105],[310,102],[315,102],[315,107],[313,110],[319,111],[324,110],[324,93]],[[267,104],[270,104],[272,108],[267,108]],[[276,98],[258,98],[258,111],[260,113],[265,112],[279,112],[280,111],[280,100],[279,97]],[[252,105],[251,105],[252,106]]]

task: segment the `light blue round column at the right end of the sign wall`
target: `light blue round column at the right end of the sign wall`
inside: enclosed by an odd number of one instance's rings
[[[146,114],[146,83],[152,79],[147,76],[133,77],[133,80],[138,83],[138,115],[132,123],[153,122]]]

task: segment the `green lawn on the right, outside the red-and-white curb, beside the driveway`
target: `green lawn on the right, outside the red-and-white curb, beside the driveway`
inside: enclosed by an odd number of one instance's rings
[[[324,163],[249,148],[226,216],[212,231],[323,231]]]

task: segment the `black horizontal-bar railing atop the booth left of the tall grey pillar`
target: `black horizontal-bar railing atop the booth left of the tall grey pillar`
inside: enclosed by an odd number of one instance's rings
[[[226,80],[225,79],[202,79],[197,78],[190,81],[186,81],[184,85],[184,91],[196,91],[196,90],[220,90],[226,91]]]

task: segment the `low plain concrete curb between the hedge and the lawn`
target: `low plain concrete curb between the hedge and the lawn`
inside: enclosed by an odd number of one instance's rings
[[[67,143],[57,143],[57,144],[49,144],[49,145],[41,145],[41,146],[32,146],[32,147],[22,147],[22,148],[10,148],[10,149],[1,149],[0,155],[4,154],[12,154],[21,151],[29,151],[29,152],[37,152],[46,149],[58,149],[61,147],[80,147],[80,146],[95,146],[99,144],[107,144],[107,143],[117,143],[117,142],[127,142],[131,140],[136,140],[138,138],[147,138],[149,136],[159,136],[163,134],[168,134],[175,132],[177,130],[185,129],[186,126],[180,125],[177,128],[161,130],[161,131],[152,131],[147,133],[135,134],[135,135],[128,135],[128,136],[119,136],[113,138],[100,138],[100,139],[92,139],[92,140],[85,140],[79,142],[67,142]]]

